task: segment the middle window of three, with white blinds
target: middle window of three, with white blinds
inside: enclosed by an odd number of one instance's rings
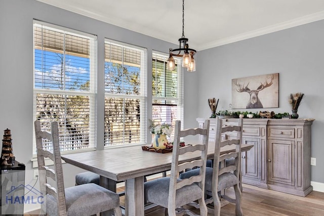
[[[143,49],[105,41],[105,146],[146,144]]]

